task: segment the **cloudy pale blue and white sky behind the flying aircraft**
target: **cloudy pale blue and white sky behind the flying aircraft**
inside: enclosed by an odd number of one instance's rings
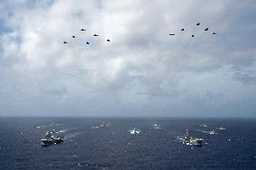
[[[256,2],[1,1],[0,116],[256,117]]]

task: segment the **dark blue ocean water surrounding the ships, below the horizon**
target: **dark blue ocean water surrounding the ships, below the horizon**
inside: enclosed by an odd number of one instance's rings
[[[41,147],[52,129],[65,142]],[[203,147],[184,145],[186,130]],[[0,169],[256,169],[255,131],[253,119],[2,117]]]

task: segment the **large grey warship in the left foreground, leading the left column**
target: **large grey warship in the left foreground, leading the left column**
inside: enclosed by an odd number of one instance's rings
[[[41,139],[42,146],[49,146],[51,144],[58,144],[64,141],[64,137],[59,132],[46,131],[45,136]]]

